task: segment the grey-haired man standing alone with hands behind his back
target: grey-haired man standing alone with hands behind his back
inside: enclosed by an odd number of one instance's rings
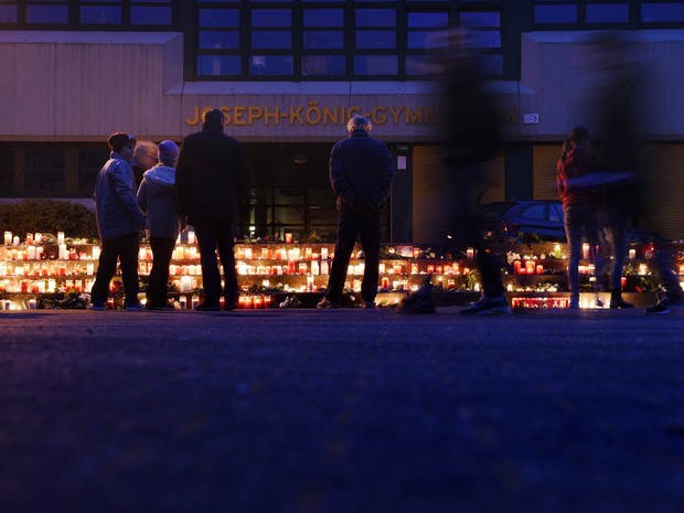
[[[365,254],[361,298],[366,308],[375,307],[377,295],[382,213],[394,182],[394,163],[387,146],[368,136],[371,122],[364,116],[354,116],[346,128],[350,137],[338,141],[330,153],[330,183],[338,203],[338,242],[328,291],[318,308],[339,307],[357,236]]]

